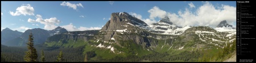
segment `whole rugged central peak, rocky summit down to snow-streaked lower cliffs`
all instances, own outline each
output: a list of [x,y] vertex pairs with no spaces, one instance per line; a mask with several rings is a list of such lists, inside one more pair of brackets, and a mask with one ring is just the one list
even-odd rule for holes
[[[148,35],[147,31],[142,29],[148,26],[144,21],[129,15],[126,12],[112,13],[111,19],[100,30],[96,39],[119,44],[120,40],[133,40],[135,43],[140,44],[148,42],[145,36]],[[140,28],[142,27],[142,28]],[[148,44],[150,45],[150,44]]]

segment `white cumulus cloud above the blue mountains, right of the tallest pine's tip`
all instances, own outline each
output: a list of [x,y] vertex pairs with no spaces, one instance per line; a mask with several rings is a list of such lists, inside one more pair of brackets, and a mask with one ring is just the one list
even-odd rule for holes
[[33,19],[28,19],[28,22],[40,22],[41,24],[44,24],[44,29],[46,30],[52,30],[57,28],[56,25],[59,25],[59,23],[61,22],[60,20],[58,20],[56,17],[51,17],[49,19],[42,19],[41,15],[36,15],[36,20]]

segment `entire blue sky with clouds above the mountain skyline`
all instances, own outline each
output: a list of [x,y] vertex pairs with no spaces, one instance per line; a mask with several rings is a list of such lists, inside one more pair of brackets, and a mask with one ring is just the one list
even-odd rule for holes
[[113,12],[130,13],[148,25],[168,16],[179,26],[214,28],[222,20],[236,26],[236,1],[1,1],[1,30],[101,29]]

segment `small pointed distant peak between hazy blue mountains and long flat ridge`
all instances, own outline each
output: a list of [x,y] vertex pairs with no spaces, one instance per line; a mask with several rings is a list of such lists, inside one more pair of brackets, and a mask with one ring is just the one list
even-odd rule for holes
[[50,36],[55,35],[55,34],[68,32],[65,28],[61,28],[60,26],[58,26],[57,28],[55,28],[53,30],[48,30],[48,31],[49,31]]

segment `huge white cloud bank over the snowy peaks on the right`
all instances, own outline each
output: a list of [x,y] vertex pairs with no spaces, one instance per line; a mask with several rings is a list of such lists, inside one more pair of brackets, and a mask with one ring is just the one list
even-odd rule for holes
[[197,7],[195,12],[185,8],[184,11],[180,10],[178,13],[171,13],[154,6],[148,10],[150,19],[142,20],[148,24],[148,22],[155,21],[156,17],[163,18],[168,16],[174,24],[179,26],[210,26],[212,28],[216,28],[220,21],[223,20],[226,20],[228,24],[236,22],[236,7],[225,4],[221,4],[221,7],[216,7],[210,2],[203,2],[203,5]]

